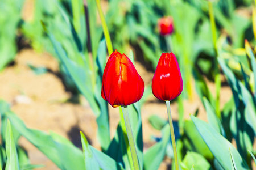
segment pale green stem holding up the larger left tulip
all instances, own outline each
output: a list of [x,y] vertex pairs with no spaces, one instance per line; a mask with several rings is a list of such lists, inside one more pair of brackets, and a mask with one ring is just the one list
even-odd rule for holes
[[130,149],[131,149],[131,158],[133,159],[133,167],[134,167],[134,170],[139,170],[138,156],[137,156],[136,147],[134,143],[133,131],[131,130],[131,124],[130,124],[127,105],[122,106],[122,111],[123,111],[123,118],[125,119],[125,126],[126,126],[127,136],[129,140]]

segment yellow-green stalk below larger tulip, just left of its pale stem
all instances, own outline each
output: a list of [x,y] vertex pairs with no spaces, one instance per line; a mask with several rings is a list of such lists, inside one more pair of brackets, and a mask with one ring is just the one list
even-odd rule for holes
[[131,148],[130,148],[128,137],[127,137],[127,131],[126,131],[126,127],[125,127],[125,118],[123,117],[122,107],[119,107],[119,113],[120,113],[120,125],[121,125],[122,131],[123,131],[123,137],[125,138],[125,144],[126,144],[126,148],[127,148],[126,152],[127,152],[129,163],[130,163],[130,168],[131,168],[131,170],[134,170],[133,158],[131,158]]

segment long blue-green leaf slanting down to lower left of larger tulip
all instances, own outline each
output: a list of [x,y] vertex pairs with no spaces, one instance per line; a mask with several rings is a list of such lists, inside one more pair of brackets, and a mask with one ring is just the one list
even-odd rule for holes
[[[53,46],[55,47],[56,53],[58,54],[61,62],[67,68],[69,75],[75,82],[77,88],[79,88],[82,95],[86,97],[89,101],[90,107],[92,107],[94,114],[97,117],[98,124],[98,139],[101,143],[103,151],[106,151],[110,143],[110,134],[109,134],[109,119],[108,119],[108,105],[104,99],[101,97],[101,78],[97,76],[96,84],[93,84],[92,81],[88,79],[92,78],[92,71],[88,69],[88,63],[84,61],[81,54],[77,54],[77,62],[72,61],[68,58],[61,44],[55,40],[55,37],[50,34],[49,38],[52,41]],[[79,61],[83,61],[79,65]]]

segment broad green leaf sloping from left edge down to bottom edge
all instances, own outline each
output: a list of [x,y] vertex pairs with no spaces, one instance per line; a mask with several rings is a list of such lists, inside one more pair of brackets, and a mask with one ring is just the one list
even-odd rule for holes
[[[2,101],[3,102],[3,101]],[[29,129],[13,112],[1,113],[9,118],[13,128],[52,160],[60,169],[85,169],[81,150],[67,139],[56,134]]]

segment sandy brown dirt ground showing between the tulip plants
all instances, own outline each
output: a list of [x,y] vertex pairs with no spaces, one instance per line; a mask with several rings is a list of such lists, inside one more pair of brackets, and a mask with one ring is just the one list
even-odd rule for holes
[[[35,75],[27,66],[28,63],[34,66],[43,66],[52,70],[42,75]],[[146,84],[152,80],[153,73],[148,72],[144,67],[135,62],[138,73]],[[81,147],[79,131],[84,131],[89,137],[92,146],[100,148],[96,139],[96,117],[89,107],[86,99],[81,97],[81,104],[65,102],[71,97],[71,93],[65,91],[61,79],[57,76],[58,63],[55,58],[47,53],[38,54],[31,49],[20,51],[13,66],[7,67],[0,73],[0,99],[11,103],[11,109],[18,114],[29,128],[44,131],[55,131],[70,139],[76,146]],[[214,84],[208,82],[210,90],[214,91]],[[193,83],[192,83],[193,86]],[[206,120],[205,111],[201,101],[194,92],[194,99],[184,101],[185,118],[193,114],[199,108],[199,117]],[[214,94],[214,92],[213,92]],[[229,87],[221,88],[221,107],[230,99],[232,92]],[[177,120],[177,104],[172,103],[172,116]],[[110,109],[110,133],[113,137],[119,121],[117,108]],[[160,136],[160,132],[153,129],[148,122],[152,114],[167,119],[166,105],[159,103],[154,97],[150,97],[142,107],[142,129],[144,151],[154,144],[151,141],[152,135]],[[20,145],[26,148],[32,164],[44,164],[42,169],[58,169],[51,160],[46,158],[25,138],[20,139]],[[159,169],[166,169],[170,160],[166,159]]]

